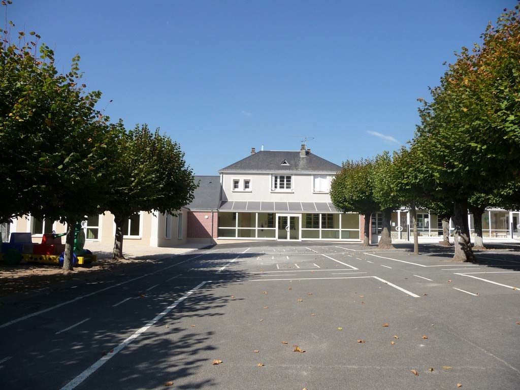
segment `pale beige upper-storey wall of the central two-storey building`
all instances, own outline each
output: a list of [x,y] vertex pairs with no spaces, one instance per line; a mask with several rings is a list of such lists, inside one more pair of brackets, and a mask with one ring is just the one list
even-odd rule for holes
[[[235,201],[265,201],[265,202],[330,202],[328,193],[313,192],[313,174],[280,173],[280,175],[292,176],[293,192],[271,192],[270,173],[224,173],[223,176],[223,200]],[[240,188],[243,180],[251,180],[251,191],[233,191],[233,179],[240,180]]]

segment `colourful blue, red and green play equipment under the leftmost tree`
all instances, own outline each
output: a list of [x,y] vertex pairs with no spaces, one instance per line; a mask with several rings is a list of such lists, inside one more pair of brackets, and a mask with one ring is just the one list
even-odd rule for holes
[[[11,233],[9,242],[0,243],[2,251],[0,261],[8,265],[21,263],[41,263],[63,265],[65,244],[61,243],[61,237],[67,233],[44,234],[42,243],[33,244],[31,233]],[[73,265],[87,265],[97,261],[85,246],[85,232],[81,224],[74,228]]]

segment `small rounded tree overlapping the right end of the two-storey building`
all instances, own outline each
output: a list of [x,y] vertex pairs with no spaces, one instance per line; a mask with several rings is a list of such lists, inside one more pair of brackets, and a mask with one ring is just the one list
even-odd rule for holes
[[379,210],[372,187],[373,160],[362,159],[343,163],[342,171],[332,180],[330,197],[334,206],[344,213],[362,214],[363,246],[370,245],[370,219]]

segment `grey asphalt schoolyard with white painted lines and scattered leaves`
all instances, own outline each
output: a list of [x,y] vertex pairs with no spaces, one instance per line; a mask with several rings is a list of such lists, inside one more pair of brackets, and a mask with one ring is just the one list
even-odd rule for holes
[[520,252],[408,249],[217,245],[4,304],[1,387],[519,389]]

